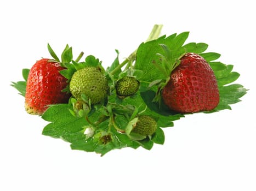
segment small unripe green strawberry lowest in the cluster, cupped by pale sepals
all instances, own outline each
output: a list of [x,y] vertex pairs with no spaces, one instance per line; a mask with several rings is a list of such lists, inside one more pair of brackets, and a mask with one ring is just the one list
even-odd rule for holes
[[156,121],[150,116],[143,115],[139,116],[138,122],[136,123],[136,126],[133,128],[132,132],[148,136],[155,133],[156,128]]

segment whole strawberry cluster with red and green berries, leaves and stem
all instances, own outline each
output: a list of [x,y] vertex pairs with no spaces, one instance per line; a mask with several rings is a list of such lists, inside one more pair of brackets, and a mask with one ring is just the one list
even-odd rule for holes
[[42,134],[70,142],[73,150],[101,156],[125,147],[150,150],[164,144],[164,128],[175,120],[231,109],[247,92],[233,83],[240,76],[233,65],[206,52],[206,43],[185,44],[189,32],[158,37],[161,28],[155,25],[122,63],[116,51],[107,68],[92,55],[74,60],[68,45],[60,60],[48,44],[53,58],[22,70],[24,81],[12,86],[29,113],[49,122]]

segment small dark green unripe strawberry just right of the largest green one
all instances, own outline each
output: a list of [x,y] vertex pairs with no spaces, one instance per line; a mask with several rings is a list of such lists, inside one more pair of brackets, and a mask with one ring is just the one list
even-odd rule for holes
[[140,82],[135,77],[125,76],[116,82],[116,93],[118,96],[132,96],[139,89]]

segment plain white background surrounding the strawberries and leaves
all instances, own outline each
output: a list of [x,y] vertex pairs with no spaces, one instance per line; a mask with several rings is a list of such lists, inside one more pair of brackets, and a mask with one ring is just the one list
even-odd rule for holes
[[[256,190],[255,9],[253,1],[18,1],[0,3],[0,190]],[[106,67],[144,41],[155,23],[162,34],[190,31],[219,61],[233,64],[250,89],[232,110],[194,114],[164,129],[164,145],[125,148],[100,157],[72,151],[41,134],[47,122],[26,114],[10,86],[22,68],[60,54],[68,43]]]

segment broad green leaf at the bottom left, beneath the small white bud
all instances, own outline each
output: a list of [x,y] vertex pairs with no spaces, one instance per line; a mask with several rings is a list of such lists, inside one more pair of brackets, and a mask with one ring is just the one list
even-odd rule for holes
[[[102,144],[100,142],[100,136],[102,136],[103,133],[100,132],[105,132],[105,130],[108,129],[109,120],[100,123],[98,127],[99,133],[95,135],[95,138],[87,138],[83,132],[90,124],[84,118],[73,116],[69,111],[68,104],[55,104],[50,106],[44,112],[42,118],[45,121],[51,122],[44,127],[42,134],[70,142],[73,150],[96,152],[103,156],[113,149],[128,146],[138,148],[140,146],[138,142],[130,140],[127,135],[120,134],[114,129],[111,129],[111,141]],[[89,117],[89,121],[95,122],[98,118],[99,114],[94,111]]]

